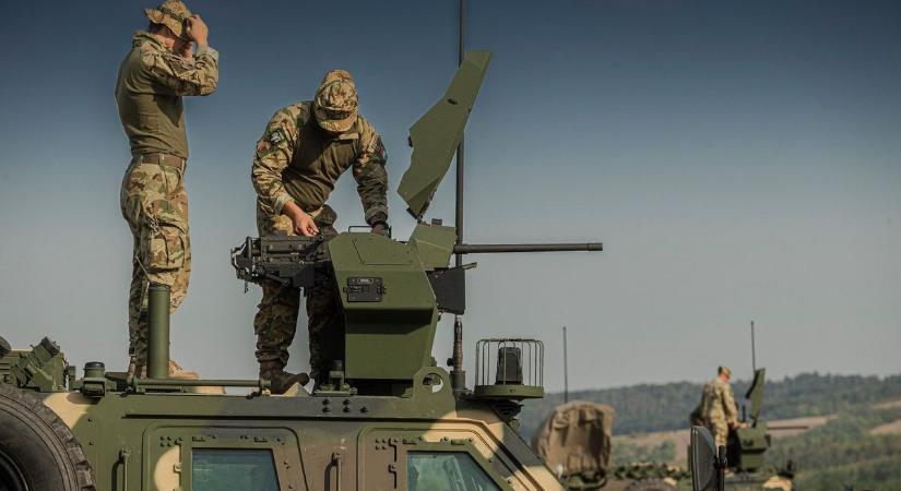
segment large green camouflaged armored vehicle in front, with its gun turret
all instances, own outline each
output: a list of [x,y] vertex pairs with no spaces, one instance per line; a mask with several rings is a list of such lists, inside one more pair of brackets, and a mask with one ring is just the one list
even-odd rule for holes
[[[462,244],[454,227],[424,221],[489,58],[469,53],[411,129],[400,185],[417,220],[408,240],[263,237],[234,251],[246,280],[334,275],[345,328],[328,380],[273,395],[266,380],[168,378],[169,294],[152,286],[146,378],[98,361],[78,378],[47,338],[24,350],[0,343],[0,490],[561,490],[517,431],[520,402],[543,395],[541,342],[477,343],[472,390],[460,322],[451,373],[431,357],[439,316],[465,308],[470,266],[450,267],[452,254],[601,250]],[[329,260],[317,259],[321,248]]]

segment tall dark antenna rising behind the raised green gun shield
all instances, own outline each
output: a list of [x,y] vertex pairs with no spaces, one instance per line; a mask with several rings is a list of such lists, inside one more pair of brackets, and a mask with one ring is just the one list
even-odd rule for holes
[[[457,64],[463,64],[466,34],[466,0],[459,0],[458,11],[458,60]],[[464,130],[465,132],[465,130]],[[454,226],[457,227],[457,246],[463,244],[463,134],[460,135],[460,143],[457,145],[457,212],[454,213]],[[463,254],[457,253],[454,260],[457,267],[463,265]],[[460,314],[453,316],[453,352],[451,355],[451,387],[455,394],[466,391],[466,371],[463,370],[463,319]]]

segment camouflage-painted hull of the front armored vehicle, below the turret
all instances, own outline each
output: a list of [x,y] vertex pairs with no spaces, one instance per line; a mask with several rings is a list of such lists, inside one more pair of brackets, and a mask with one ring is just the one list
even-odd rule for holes
[[[164,384],[92,397],[3,385],[0,427],[32,428],[14,444],[0,441],[12,463],[8,489],[562,489],[490,404],[454,397],[442,369],[420,374],[408,397],[192,394]],[[52,430],[60,422],[71,433]],[[42,466],[45,478],[60,476],[52,482],[16,457],[67,446],[73,458]]]

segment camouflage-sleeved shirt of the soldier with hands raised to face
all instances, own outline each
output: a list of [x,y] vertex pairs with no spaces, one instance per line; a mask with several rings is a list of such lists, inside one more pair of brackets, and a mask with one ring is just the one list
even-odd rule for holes
[[131,154],[164,153],[188,158],[181,96],[210,95],[218,83],[218,52],[198,49],[186,59],[139,31],[119,67],[116,103]]

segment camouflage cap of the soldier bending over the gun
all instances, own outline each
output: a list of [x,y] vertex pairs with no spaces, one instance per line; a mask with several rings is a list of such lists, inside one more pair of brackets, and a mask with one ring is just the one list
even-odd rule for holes
[[357,87],[345,70],[332,70],[322,79],[313,99],[313,113],[320,127],[344,132],[357,120]]

